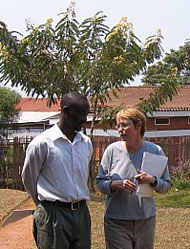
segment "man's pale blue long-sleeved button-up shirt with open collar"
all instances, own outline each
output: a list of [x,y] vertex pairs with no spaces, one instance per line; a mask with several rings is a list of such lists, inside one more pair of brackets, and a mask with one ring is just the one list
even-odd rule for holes
[[91,155],[91,140],[82,132],[71,142],[54,125],[35,137],[26,152],[22,180],[36,205],[43,200],[89,200]]

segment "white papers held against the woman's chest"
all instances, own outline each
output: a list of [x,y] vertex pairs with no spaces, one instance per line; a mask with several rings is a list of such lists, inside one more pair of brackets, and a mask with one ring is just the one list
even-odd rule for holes
[[[168,162],[168,157],[144,152],[141,170],[152,175],[161,177]],[[139,184],[136,194],[141,197],[152,197],[153,188],[149,184]]]

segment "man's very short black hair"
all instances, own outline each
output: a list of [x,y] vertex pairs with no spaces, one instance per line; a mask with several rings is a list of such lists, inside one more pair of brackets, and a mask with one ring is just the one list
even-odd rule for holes
[[64,106],[75,106],[77,105],[77,103],[81,102],[81,101],[87,101],[88,99],[86,96],[78,93],[78,92],[69,92],[67,94],[65,94],[63,96],[63,98],[61,99],[61,103],[60,106],[61,108]]

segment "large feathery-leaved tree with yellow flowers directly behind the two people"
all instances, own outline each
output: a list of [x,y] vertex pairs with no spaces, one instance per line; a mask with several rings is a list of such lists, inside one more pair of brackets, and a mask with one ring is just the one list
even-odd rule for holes
[[[38,27],[28,23],[29,34],[20,40],[18,32],[0,23],[0,80],[48,97],[49,104],[71,90],[85,94],[94,112],[92,135],[95,120],[112,117],[118,108],[107,107],[110,90],[117,95],[117,89],[160,58],[162,36],[158,31],[143,44],[126,17],[110,29],[102,12],[79,23],[73,5],[61,17],[55,27],[52,19]],[[169,90],[176,88],[172,83]]]

